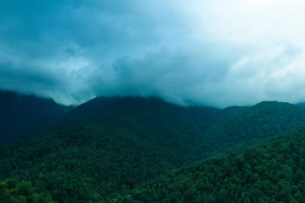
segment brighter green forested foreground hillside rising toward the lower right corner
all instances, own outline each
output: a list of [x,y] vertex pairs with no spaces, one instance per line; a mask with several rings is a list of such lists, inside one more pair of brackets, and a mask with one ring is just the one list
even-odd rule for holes
[[[123,202],[304,202],[305,127],[167,172]],[[118,197],[118,200],[121,198]]]

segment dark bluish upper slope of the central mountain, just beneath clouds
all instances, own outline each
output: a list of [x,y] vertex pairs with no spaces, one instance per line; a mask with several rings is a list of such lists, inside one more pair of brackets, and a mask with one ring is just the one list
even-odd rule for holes
[[55,128],[73,125],[119,128],[156,145],[191,151],[203,135],[183,107],[160,98],[95,98],[61,117]]

